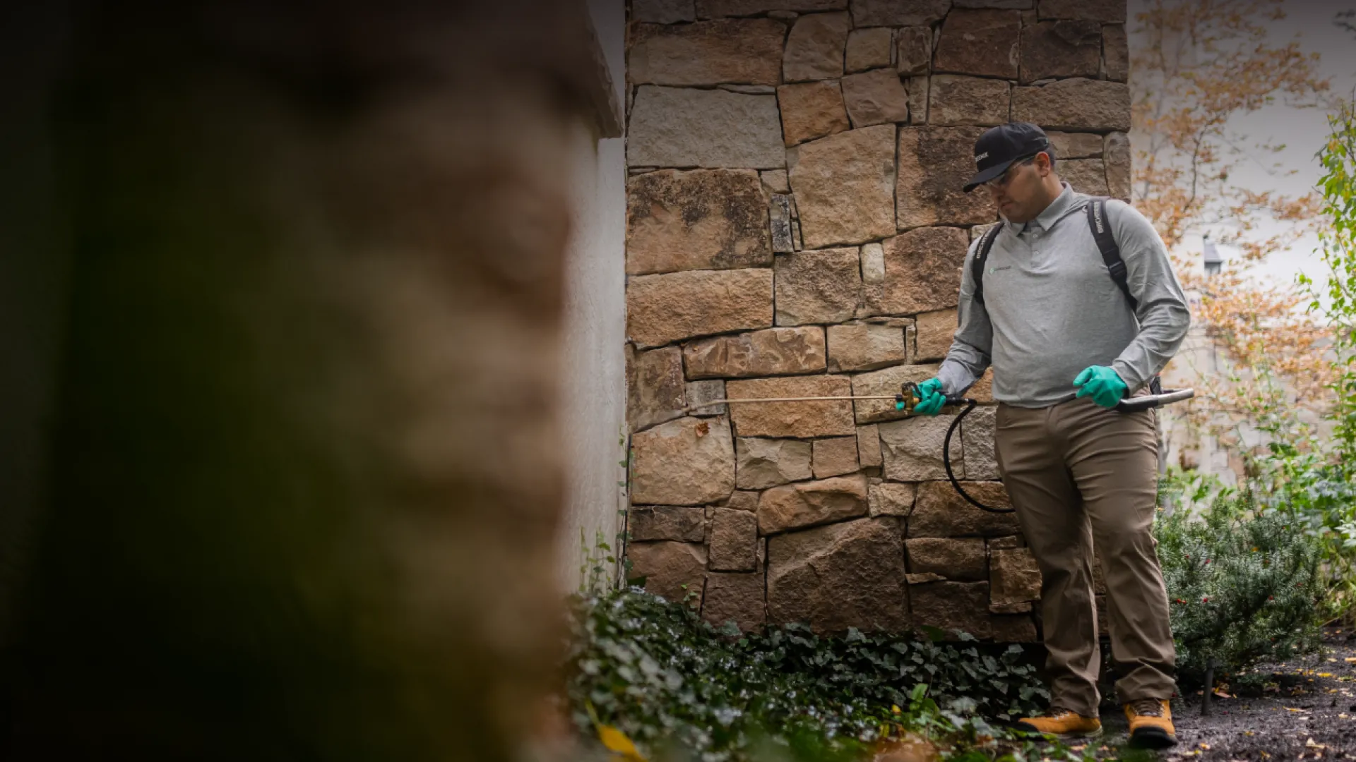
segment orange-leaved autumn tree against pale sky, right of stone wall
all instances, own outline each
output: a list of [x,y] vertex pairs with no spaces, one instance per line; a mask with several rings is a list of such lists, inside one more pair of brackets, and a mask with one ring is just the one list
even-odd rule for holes
[[[1258,263],[1321,224],[1319,197],[1231,179],[1242,163],[1294,172],[1275,165],[1283,145],[1238,134],[1237,117],[1272,104],[1319,107],[1329,89],[1317,53],[1268,37],[1283,15],[1281,0],[1150,0],[1131,20],[1132,201],[1177,252],[1182,285],[1200,296],[1193,320],[1227,366],[1204,373],[1197,400],[1176,412],[1226,445],[1241,422],[1277,426],[1298,408],[1322,412],[1336,378],[1328,332],[1304,313],[1309,300],[1256,277]],[[1200,252],[1182,247],[1205,230],[1241,254],[1210,278],[1196,267]]]

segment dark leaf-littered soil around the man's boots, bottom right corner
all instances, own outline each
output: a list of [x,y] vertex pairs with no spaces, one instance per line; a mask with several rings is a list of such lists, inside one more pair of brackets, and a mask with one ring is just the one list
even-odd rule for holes
[[[1323,643],[1318,656],[1265,667],[1273,685],[1260,696],[1216,693],[1208,717],[1200,715],[1200,691],[1174,698],[1178,744],[1159,759],[1356,759],[1356,630],[1329,628]],[[1106,735],[1089,751],[1116,757],[1125,743],[1125,716],[1104,705],[1102,724]]]

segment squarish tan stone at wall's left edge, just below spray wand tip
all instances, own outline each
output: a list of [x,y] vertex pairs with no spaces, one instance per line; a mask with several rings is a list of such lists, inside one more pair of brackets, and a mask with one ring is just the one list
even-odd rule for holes
[[631,500],[700,506],[735,489],[735,443],[724,418],[681,418],[631,438]]

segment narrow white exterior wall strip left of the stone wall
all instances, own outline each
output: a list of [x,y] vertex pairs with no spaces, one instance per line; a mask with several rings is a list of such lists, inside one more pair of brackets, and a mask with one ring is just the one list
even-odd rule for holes
[[[589,0],[618,103],[625,103],[625,3]],[[580,119],[571,144],[574,229],[565,262],[565,329],[560,401],[565,447],[565,511],[559,529],[557,579],[578,588],[598,532],[616,548],[625,507],[626,317],[625,138],[598,138]]]

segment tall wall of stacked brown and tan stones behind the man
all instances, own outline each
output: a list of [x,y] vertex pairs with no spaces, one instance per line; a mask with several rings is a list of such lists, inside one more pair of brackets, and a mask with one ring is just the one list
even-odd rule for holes
[[[965,249],[960,186],[1009,119],[1077,190],[1128,198],[1124,0],[633,0],[626,331],[633,575],[716,624],[1037,637],[1016,519],[946,483],[949,415],[881,403],[936,374]],[[952,442],[1005,504],[991,377]],[[1101,593],[1098,582],[1098,593]]]

